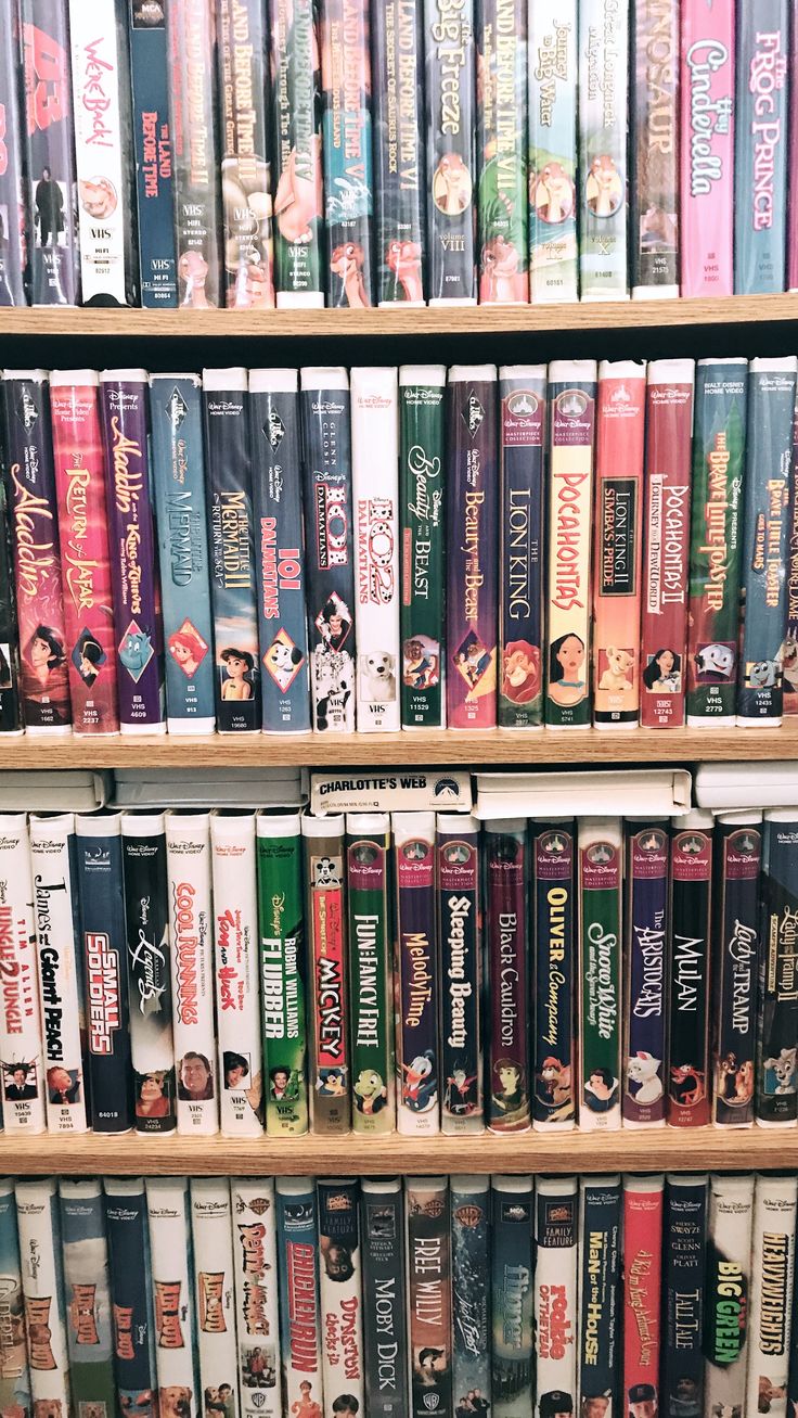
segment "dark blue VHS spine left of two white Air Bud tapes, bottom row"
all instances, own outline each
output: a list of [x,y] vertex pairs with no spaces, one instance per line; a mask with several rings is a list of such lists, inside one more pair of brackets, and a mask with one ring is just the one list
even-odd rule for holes
[[103,1190],[118,1401],[123,1411],[154,1415],[156,1334],[145,1180],[106,1177]]

